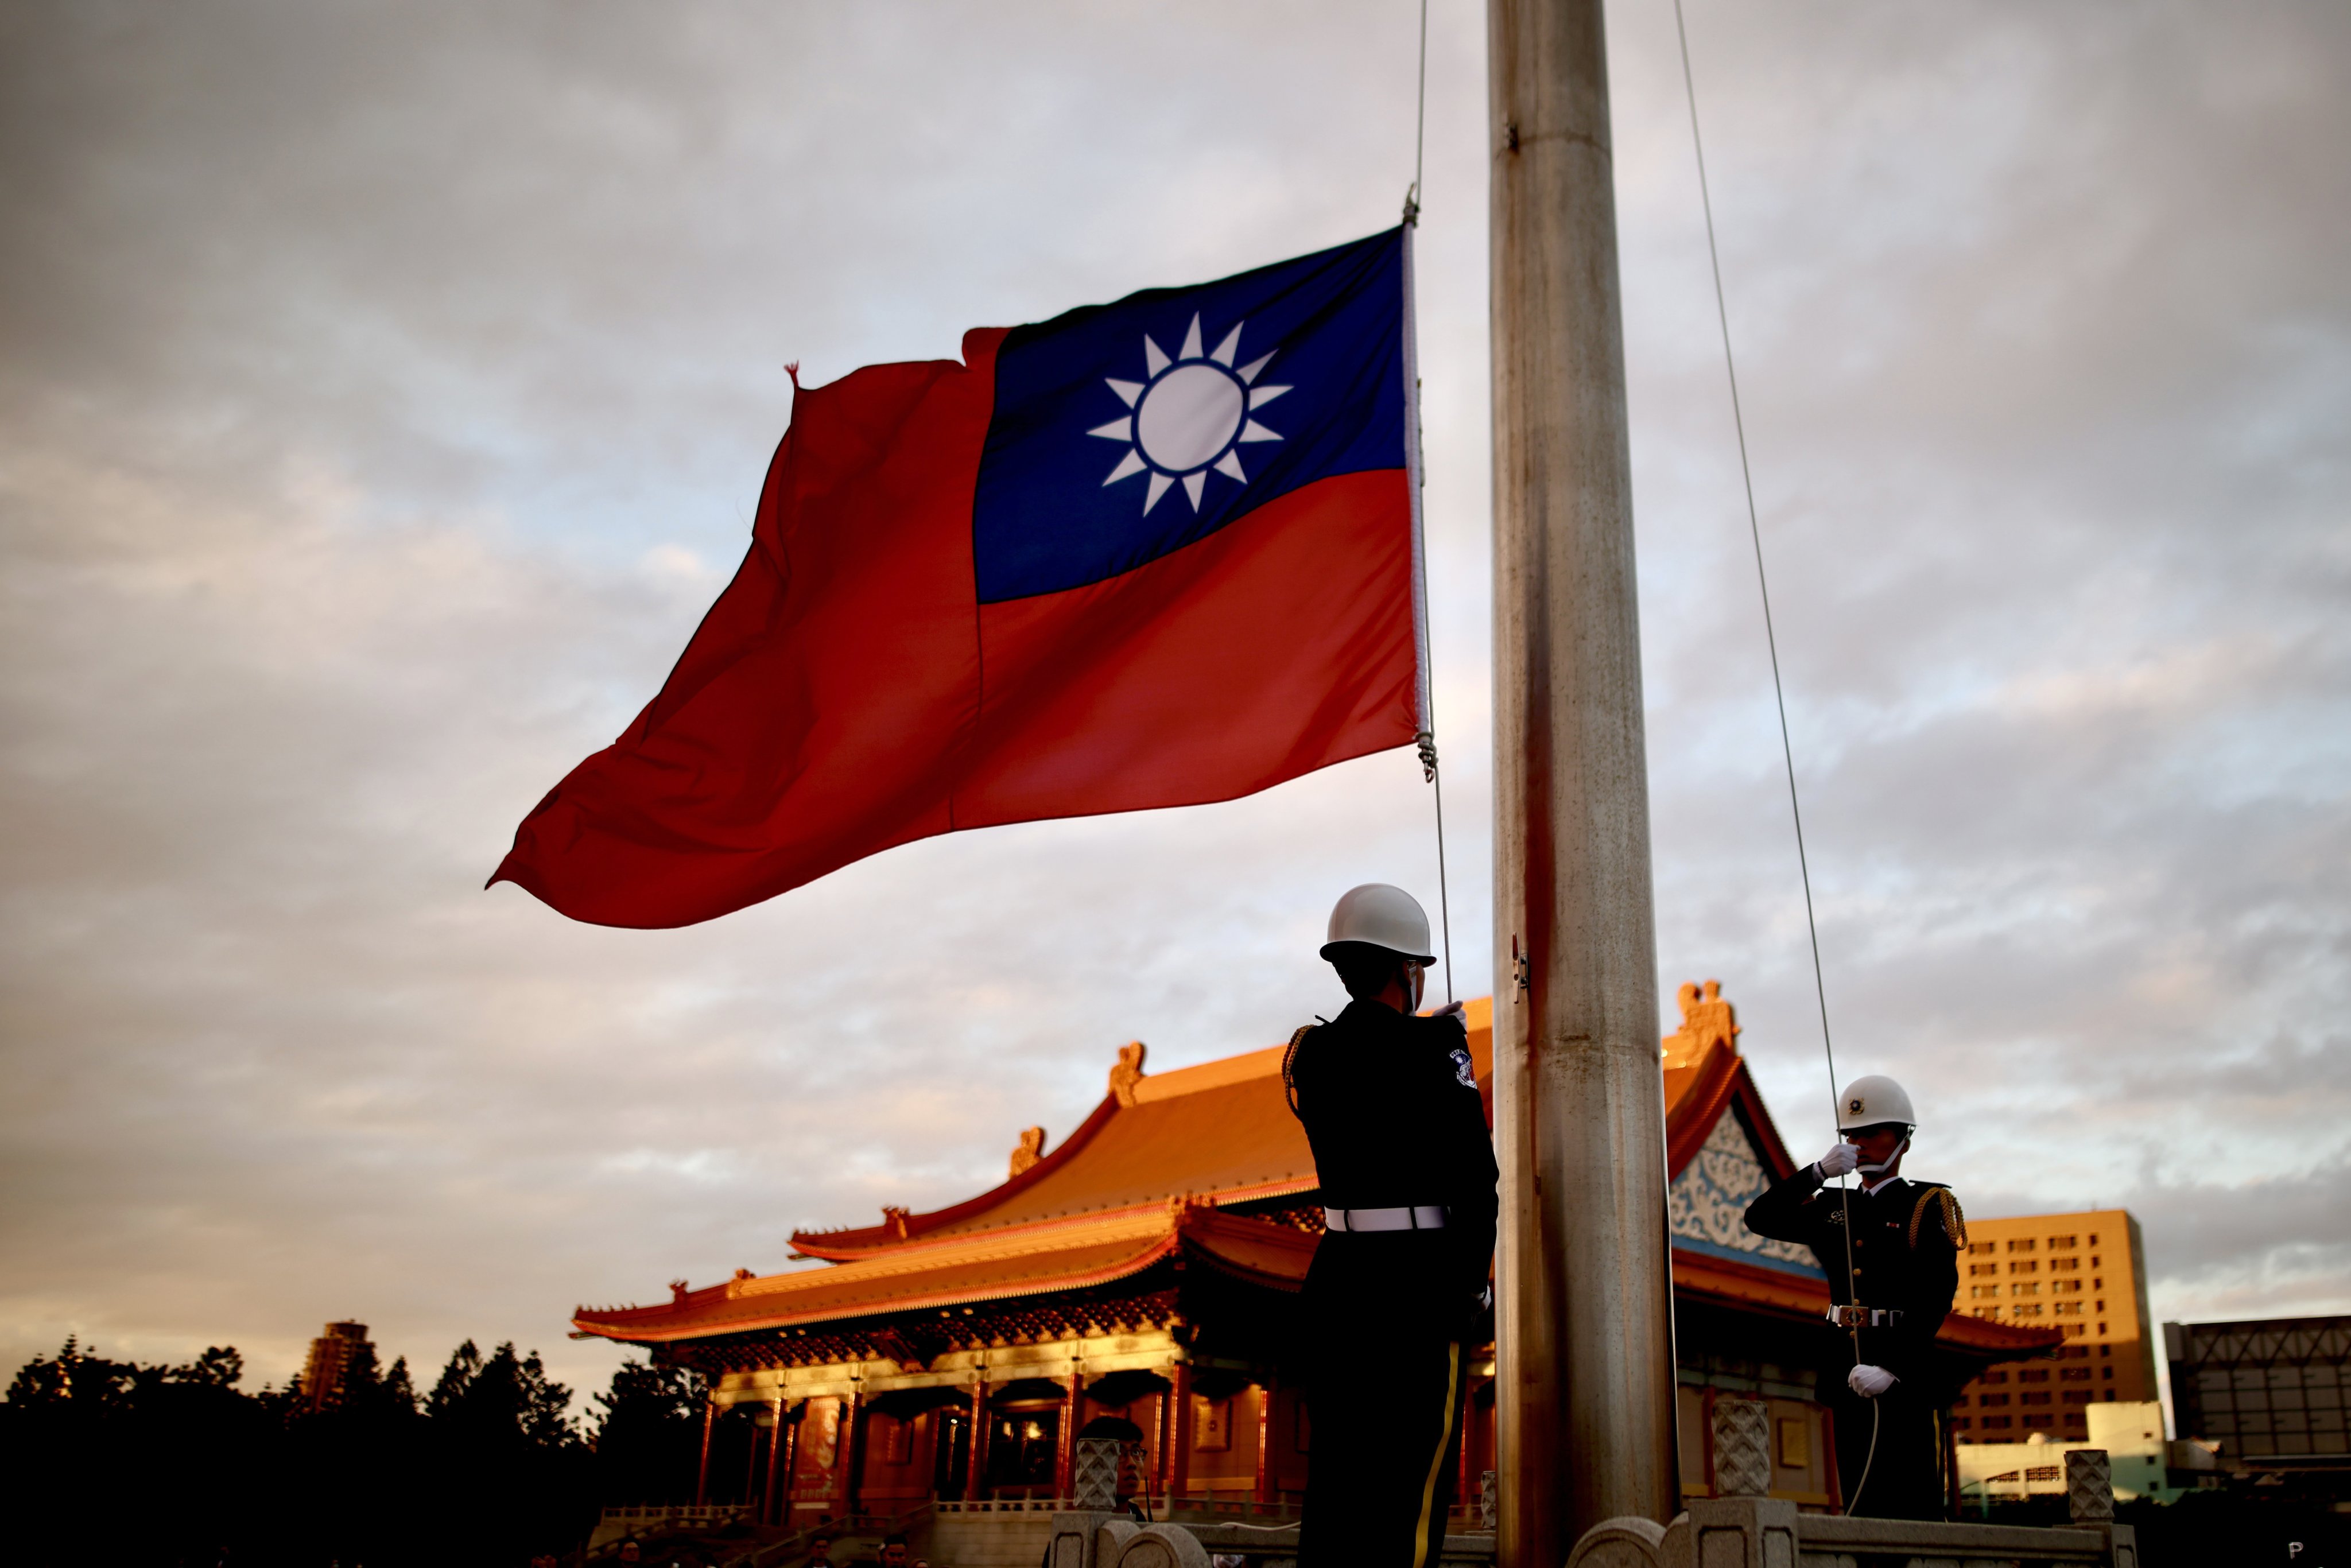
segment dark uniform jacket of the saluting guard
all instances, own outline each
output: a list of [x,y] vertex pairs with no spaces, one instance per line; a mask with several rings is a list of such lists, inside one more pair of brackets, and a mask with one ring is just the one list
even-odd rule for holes
[[[1846,1211],[1853,1213],[1853,1274],[1846,1274]],[[1911,1394],[1944,1399],[1935,1359],[1935,1331],[1958,1295],[1958,1253],[1968,1246],[1968,1222],[1949,1187],[1895,1178],[1867,1192],[1836,1192],[1806,1166],[1747,1206],[1747,1229],[1773,1241],[1801,1241],[1829,1276],[1829,1300],[1838,1305],[1900,1312],[1900,1321],[1862,1328],[1862,1366],[1883,1366]],[[1834,1366],[1822,1368],[1822,1387],[1855,1366],[1853,1335],[1836,1335]]]

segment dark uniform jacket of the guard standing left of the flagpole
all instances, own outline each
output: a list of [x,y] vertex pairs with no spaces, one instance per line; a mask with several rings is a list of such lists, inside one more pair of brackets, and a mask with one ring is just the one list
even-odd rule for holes
[[1326,1208],[1444,1206],[1446,1227],[1324,1234],[1307,1309],[1467,1333],[1493,1265],[1500,1166],[1458,1013],[1349,1001],[1284,1063]]

